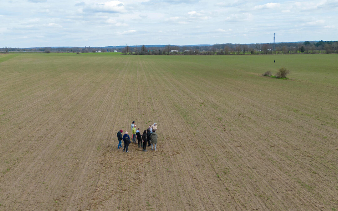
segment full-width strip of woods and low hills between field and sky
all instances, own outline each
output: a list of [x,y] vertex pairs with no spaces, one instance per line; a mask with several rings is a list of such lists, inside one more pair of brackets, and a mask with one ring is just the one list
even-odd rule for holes
[[0,48],[0,52],[122,52],[132,55],[240,55],[240,54],[315,54],[338,53],[338,41],[306,41],[256,44],[215,44],[199,46],[109,46],[109,47],[40,47],[40,48]]

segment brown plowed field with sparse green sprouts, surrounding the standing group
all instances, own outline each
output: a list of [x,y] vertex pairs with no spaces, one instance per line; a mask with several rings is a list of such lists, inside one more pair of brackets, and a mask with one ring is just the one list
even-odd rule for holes
[[[281,67],[289,80],[262,76]],[[0,210],[336,210],[337,67],[338,55],[0,55]],[[158,123],[157,151],[117,150],[132,121]]]

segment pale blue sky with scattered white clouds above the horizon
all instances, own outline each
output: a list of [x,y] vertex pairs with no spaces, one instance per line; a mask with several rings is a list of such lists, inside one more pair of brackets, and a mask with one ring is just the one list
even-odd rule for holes
[[338,0],[0,0],[0,48],[338,40]]

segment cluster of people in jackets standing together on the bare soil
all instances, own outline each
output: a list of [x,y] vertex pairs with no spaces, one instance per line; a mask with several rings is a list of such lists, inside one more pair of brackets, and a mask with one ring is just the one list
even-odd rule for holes
[[[153,125],[149,125],[148,129],[144,130],[141,136],[140,128],[136,130],[135,121],[133,121],[131,123],[132,143],[136,143],[136,139],[137,139],[139,147],[140,146],[142,147],[142,151],[147,152],[146,147],[147,147],[147,142],[148,142],[148,147],[151,146],[151,150],[154,149],[154,151],[156,151],[156,145],[157,145],[156,130],[157,130],[157,124],[154,123]],[[122,148],[122,140],[123,140],[123,143],[124,143],[123,152],[128,152],[128,146],[129,146],[129,143],[131,143],[130,137],[127,131],[124,133],[123,136],[122,136],[122,133],[123,133],[123,130],[120,130],[119,132],[117,132],[117,135],[116,135],[117,140],[119,141],[117,149]]]

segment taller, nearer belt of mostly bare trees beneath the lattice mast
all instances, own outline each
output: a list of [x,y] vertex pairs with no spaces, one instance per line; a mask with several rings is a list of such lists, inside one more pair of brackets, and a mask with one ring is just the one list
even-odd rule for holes
[[338,53],[338,41],[306,41],[292,43],[272,43],[256,44],[215,44],[212,46],[174,46],[150,47],[142,45],[140,47],[130,47],[126,45],[122,49],[122,54],[135,55],[244,55],[244,54],[302,54],[302,53]]

